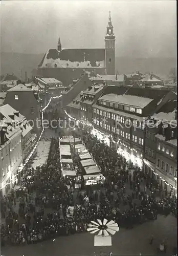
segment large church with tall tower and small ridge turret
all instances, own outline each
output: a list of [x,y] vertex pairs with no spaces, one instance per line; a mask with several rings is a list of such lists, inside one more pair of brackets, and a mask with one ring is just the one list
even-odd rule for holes
[[106,27],[105,48],[98,49],[62,49],[60,38],[57,49],[44,54],[38,65],[38,76],[56,78],[69,86],[85,71],[91,75],[115,75],[115,35],[112,19]]

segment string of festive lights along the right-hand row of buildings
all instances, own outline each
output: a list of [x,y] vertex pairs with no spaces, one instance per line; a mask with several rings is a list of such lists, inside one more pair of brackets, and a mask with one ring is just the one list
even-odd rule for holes
[[[64,112],[65,112],[65,114],[66,114],[69,118],[71,118],[71,119],[73,119],[73,120],[77,120],[76,118],[70,116],[65,110],[64,110]],[[86,123],[84,123],[84,121],[81,121],[81,120],[77,120],[77,121],[78,121],[79,123],[86,124]],[[87,124],[86,124],[86,125],[87,125]],[[97,129],[95,129],[95,127],[94,127],[92,124],[87,125],[87,126],[92,127],[93,130],[95,130],[95,131],[98,131]],[[106,135],[106,134],[104,134],[104,133],[102,133],[102,132],[100,132],[100,131],[98,131],[98,132],[99,132],[101,135],[103,135],[103,136],[105,136],[105,137],[107,137],[107,138],[110,138],[110,139],[112,140],[112,142],[117,143],[117,144],[120,144],[120,145],[123,145],[123,146],[125,146],[125,147],[128,147],[130,151],[135,151],[135,152],[137,153],[137,150],[135,150],[135,148],[130,148],[128,145],[124,144],[123,142],[120,142],[120,139],[118,140],[118,142],[116,142],[116,141],[113,140],[113,136],[112,136],[112,135]],[[141,157],[143,157],[143,156],[141,155]],[[143,160],[143,161],[144,161],[144,160]],[[145,161],[144,161],[144,163],[145,163]],[[145,163],[145,164],[146,164],[146,163]],[[154,172],[154,170],[153,170],[152,168],[150,168],[150,169],[152,170],[152,172],[153,172],[156,176],[159,176],[157,173]],[[160,177],[160,179],[161,179],[162,181],[165,182],[166,185],[172,187],[173,189],[176,189],[176,187],[174,187],[172,184],[167,183],[167,182],[165,181],[165,179],[163,179],[161,176],[159,176],[159,177]]]

